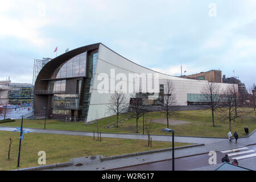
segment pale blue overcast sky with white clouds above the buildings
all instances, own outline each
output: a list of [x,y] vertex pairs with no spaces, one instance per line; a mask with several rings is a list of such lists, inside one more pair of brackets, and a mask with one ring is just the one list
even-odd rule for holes
[[187,75],[220,69],[256,82],[255,0],[1,0],[0,22],[0,80],[32,83],[34,58],[101,42],[170,75],[182,64]]

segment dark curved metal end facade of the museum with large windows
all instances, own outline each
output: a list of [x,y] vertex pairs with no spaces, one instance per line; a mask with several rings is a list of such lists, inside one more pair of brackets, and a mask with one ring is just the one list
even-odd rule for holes
[[[46,116],[47,118],[68,120],[70,118],[86,118],[87,107],[89,107],[89,103],[87,103],[89,99],[88,84],[90,84],[92,79],[92,73],[90,73],[90,69],[92,69],[90,65],[92,64],[89,63],[92,56],[90,55],[98,52],[99,45],[100,43],[97,43],[74,49],[52,59],[44,65],[35,81],[35,117]],[[57,76],[58,73],[60,74],[59,69],[61,65],[82,53],[87,55],[85,58],[86,67],[84,68],[84,63],[80,65],[82,68],[77,69],[81,72],[80,74],[75,72],[77,65],[74,65],[71,70],[71,72],[73,71],[72,76],[68,75],[68,71],[65,76]],[[59,85],[61,89],[57,89]],[[59,105],[56,104],[58,101]]]

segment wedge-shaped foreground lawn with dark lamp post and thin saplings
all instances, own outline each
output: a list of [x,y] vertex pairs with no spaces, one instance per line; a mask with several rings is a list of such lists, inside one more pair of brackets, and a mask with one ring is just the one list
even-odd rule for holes
[[[7,160],[9,137],[13,137],[10,160]],[[175,146],[185,146],[189,143],[175,143]],[[20,155],[20,168],[39,166],[38,152],[46,152],[46,164],[69,162],[72,158],[86,156],[121,155],[133,152],[157,150],[171,147],[171,142],[152,142],[152,148],[147,146],[147,140],[131,140],[102,138],[102,141],[93,140],[93,137],[53,134],[24,134]],[[19,133],[0,131],[0,170],[17,169],[19,150]]]

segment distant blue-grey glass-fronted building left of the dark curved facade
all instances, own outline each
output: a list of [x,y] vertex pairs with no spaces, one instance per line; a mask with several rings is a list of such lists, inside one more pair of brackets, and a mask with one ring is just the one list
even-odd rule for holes
[[32,84],[10,83],[9,104],[29,104],[32,102]]

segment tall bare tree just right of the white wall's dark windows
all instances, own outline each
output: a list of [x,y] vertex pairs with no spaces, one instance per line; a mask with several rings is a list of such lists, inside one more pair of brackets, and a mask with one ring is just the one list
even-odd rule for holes
[[164,85],[164,112],[166,113],[167,128],[169,128],[169,116],[171,115],[173,109],[171,106],[176,104],[176,94],[174,93],[174,85],[172,81],[167,80],[166,85]]

